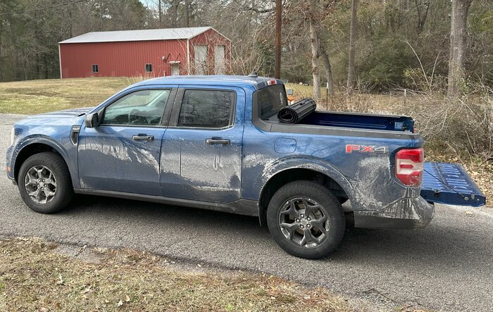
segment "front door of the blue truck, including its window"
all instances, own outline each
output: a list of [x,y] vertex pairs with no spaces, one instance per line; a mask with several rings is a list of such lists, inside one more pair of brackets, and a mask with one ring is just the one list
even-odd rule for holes
[[163,114],[172,89],[130,92],[104,108],[99,126],[82,127],[80,185],[85,189],[161,195]]

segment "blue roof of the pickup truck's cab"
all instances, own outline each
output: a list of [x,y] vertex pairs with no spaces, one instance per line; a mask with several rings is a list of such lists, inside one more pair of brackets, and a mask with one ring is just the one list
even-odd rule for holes
[[138,82],[136,85],[215,85],[229,87],[253,87],[261,89],[268,85],[280,85],[281,80],[269,77],[232,76],[232,75],[182,75],[167,76]]

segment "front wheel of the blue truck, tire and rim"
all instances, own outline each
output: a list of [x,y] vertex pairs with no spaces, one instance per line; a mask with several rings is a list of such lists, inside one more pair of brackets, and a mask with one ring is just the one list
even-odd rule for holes
[[27,158],[20,166],[17,184],[25,204],[39,213],[60,211],[74,194],[67,164],[52,152]]

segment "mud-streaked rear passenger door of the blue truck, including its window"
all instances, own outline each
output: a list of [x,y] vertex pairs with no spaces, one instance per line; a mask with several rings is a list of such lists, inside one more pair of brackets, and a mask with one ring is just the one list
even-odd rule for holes
[[240,198],[244,105],[243,89],[180,86],[161,148],[163,196]]

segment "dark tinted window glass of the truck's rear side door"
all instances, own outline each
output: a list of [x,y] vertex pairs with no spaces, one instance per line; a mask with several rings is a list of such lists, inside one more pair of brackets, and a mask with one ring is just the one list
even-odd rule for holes
[[235,92],[185,90],[178,125],[185,127],[227,127],[232,123]]

